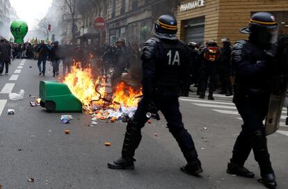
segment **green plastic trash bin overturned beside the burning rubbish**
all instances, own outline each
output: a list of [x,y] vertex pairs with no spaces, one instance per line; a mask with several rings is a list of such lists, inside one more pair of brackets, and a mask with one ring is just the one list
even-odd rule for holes
[[77,112],[82,113],[82,103],[72,94],[65,83],[40,81],[40,106],[48,112]]

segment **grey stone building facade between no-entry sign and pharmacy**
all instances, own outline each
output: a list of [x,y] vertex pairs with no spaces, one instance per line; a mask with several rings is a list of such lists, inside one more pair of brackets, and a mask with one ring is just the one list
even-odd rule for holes
[[108,0],[106,42],[122,38],[130,44],[142,44],[151,37],[160,15],[174,15],[177,2],[172,0]]

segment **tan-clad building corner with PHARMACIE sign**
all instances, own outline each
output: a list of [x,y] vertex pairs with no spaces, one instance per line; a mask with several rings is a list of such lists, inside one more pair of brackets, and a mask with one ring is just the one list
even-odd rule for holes
[[288,0],[185,0],[177,8],[178,36],[184,42],[230,38],[246,39],[239,28],[248,26],[250,16],[259,11],[275,15],[279,35],[288,35]]

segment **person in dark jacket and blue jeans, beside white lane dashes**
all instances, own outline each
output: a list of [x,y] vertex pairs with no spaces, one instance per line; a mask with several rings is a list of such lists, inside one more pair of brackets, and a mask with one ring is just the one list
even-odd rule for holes
[[[38,68],[39,68],[39,75],[45,76],[46,71],[46,60],[51,52],[51,48],[49,45],[45,44],[44,40],[41,40],[41,44],[39,44],[37,50],[38,52]],[[41,67],[42,63],[42,67]]]

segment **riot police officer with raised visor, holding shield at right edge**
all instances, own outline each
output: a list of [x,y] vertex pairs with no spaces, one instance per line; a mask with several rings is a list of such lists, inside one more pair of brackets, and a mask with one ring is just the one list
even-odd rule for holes
[[233,100],[243,119],[243,125],[235,142],[227,173],[253,178],[253,172],[243,167],[253,149],[262,176],[259,181],[267,188],[276,188],[262,122],[269,104],[269,71],[277,49],[275,42],[278,24],[273,15],[260,12],[255,13],[249,26],[240,31],[249,34],[249,40],[240,40],[232,49],[232,63],[235,67]]

